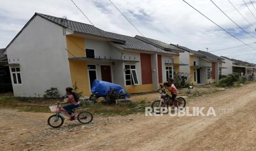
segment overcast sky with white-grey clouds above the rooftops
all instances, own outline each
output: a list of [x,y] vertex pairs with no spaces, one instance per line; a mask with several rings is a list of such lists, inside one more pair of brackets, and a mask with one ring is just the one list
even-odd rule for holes
[[[110,1],[73,1],[77,3],[96,27],[128,36],[140,35],[113,7]],[[243,0],[230,1],[256,27],[256,19],[250,13]],[[256,10],[250,1],[244,1],[256,16]],[[256,1],[251,1],[256,7]],[[112,2],[149,38],[204,51],[206,51],[206,48],[208,48],[208,51],[213,51],[243,45],[239,40],[222,31],[182,0],[112,0]],[[243,42],[256,42],[256,38],[240,30],[210,0],[187,0],[187,2]],[[250,26],[237,13],[228,0],[213,0],[213,2],[239,26],[256,37],[255,28]],[[89,24],[89,21],[85,19],[70,0],[1,0],[0,48],[5,48],[9,44],[35,12],[57,17],[67,16],[69,20]],[[251,46],[256,48],[256,44],[251,44]],[[256,49],[252,49],[247,45],[212,53],[256,63]]]

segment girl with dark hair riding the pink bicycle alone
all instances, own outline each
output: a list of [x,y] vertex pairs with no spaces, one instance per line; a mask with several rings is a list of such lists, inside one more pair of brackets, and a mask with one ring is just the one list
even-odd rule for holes
[[67,92],[68,98],[64,99],[64,102],[57,102],[57,103],[61,103],[61,104],[68,103],[66,106],[63,107],[63,109],[65,109],[68,112],[68,114],[70,115],[69,120],[73,120],[74,119],[73,109],[78,108],[80,106],[79,100],[78,100],[77,96],[75,96],[75,92],[73,91],[72,88],[70,88],[70,87],[66,88],[66,92]]

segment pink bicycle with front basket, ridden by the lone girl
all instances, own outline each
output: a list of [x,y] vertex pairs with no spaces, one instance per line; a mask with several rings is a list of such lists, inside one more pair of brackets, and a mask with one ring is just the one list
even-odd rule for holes
[[[67,117],[71,118],[71,115],[68,114],[68,112],[65,109],[61,108],[61,104],[59,104],[59,103],[57,103],[57,105],[55,105],[55,106],[50,106],[49,108],[50,108],[51,112],[56,112],[56,114],[51,115],[47,120],[48,125],[50,125],[51,127],[57,128],[57,127],[62,126],[64,123],[64,119],[65,119],[63,115],[66,115]],[[78,112],[77,111],[78,109],[79,108],[73,109],[73,111],[74,111],[74,113],[72,115],[73,119],[74,120],[77,119],[82,124],[90,123],[93,119],[92,114],[88,111]]]

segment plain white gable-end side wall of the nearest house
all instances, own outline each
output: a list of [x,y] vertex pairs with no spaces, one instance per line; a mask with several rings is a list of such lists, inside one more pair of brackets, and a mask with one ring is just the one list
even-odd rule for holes
[[72,86],[66,47],[62,27],[36,16],[7,49],[9,64],[20,64],[14,96],[43,96],[51,87],[64,95]]

